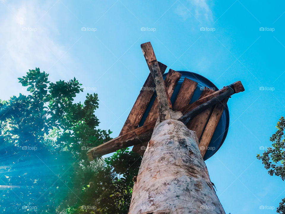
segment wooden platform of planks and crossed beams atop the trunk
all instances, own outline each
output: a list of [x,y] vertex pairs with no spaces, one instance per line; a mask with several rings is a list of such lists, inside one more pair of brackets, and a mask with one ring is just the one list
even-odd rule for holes
[[[147,143],[151,139],[153,128],[166,119],[178,119],[187,125],[190,130],[196,131],[200,152],[204,157],[229,97],[244,91],[242,83],[237,81],[218,91],[205,87],[199,99],[189,104],[198,83],[185,78],[172,106],[170,97],[181,74],[170,69],[165,80],[163,80],[162,74],[167,66],[157,61],[150,42],[143,43],[141,48],[150,74],[126,119],[120,135],[88,150],[89,161],[131,146],[134,146],[134,152],[143,155]],[[154,90],[148,89],[154,87],[156,88],[156,100],[144,124],[138,127],[154,95]]]

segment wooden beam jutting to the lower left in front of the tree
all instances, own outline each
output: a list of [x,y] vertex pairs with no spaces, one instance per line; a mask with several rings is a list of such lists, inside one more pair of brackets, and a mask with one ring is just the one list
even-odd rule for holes
[[88,160],[92,161],[96,157],[115,152],[119,149],[130,147],[136,144],[140,144],[151,139],[151,134],[156,121],[145,124],[135,130],[129,131],[123,135],[120,135],[104,144],[94,147],[86,153]]

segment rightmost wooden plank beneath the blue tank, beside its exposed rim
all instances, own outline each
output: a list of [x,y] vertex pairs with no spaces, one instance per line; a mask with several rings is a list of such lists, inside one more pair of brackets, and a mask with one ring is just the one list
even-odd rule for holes
[[224,108],[227,105],[228,99],[229,98],[227,97],[222,102],[217,103],[213,109],[213,112],[209,118],[209,121],[206,125],[206,128],[203,132],[202,138],[199,143],[199,149],[200,149],[202,157],[204,157],[207,152],[208,146],[217,128],[217,125],[221,119]]

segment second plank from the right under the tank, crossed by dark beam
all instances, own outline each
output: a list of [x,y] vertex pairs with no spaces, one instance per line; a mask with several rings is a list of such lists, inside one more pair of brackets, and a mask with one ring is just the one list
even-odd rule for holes
[[[200,98],[203,98],[211,93],[215,92],[214,90],[211,90],[207,87],[204,88],[202,91],[202,94]],[[196,132],[197,138],[200,140],[202,133],[205,129],[205,126],[208,122],[208,119],[213,111],[213,107],[206,109],[202,113],[198,114],[196,117],[191,119],[189,123],[187,124],[187,128],[189,128],[192,131]]]

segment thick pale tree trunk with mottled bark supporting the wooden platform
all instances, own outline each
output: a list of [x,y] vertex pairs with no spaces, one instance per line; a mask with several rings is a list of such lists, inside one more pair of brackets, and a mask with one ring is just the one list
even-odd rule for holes
[[195,132],[175,119],[154,128],[129,214],[225,214],[197,142]]

